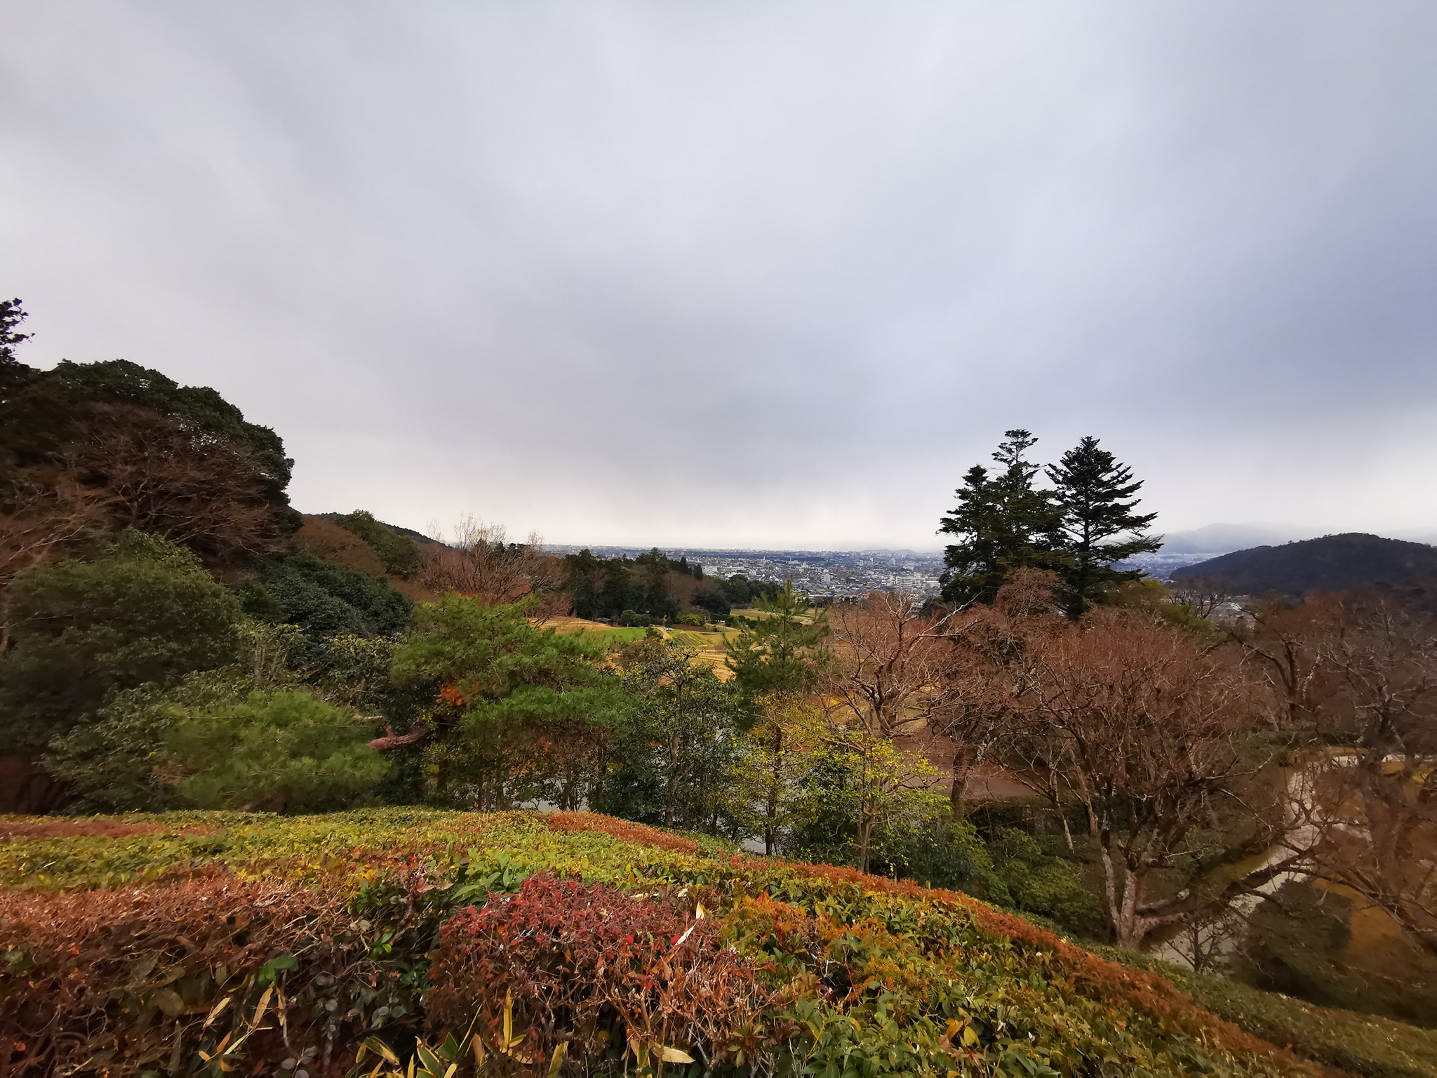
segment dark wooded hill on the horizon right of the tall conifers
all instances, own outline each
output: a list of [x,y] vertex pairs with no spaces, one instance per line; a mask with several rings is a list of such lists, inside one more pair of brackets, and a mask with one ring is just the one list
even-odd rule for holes
[[1173,579],[1210,576],[1246,595],[1280,592],[1302,596],[1377,584],[1398,585],[1428,573],[1437,573],[1437,548],[1348,532],[1234,550],[1174,569]]

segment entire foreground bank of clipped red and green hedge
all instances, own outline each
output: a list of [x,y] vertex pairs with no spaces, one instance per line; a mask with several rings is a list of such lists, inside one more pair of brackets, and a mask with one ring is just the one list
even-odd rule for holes
[[[964,895],[589,814],[0,837],[14,1075],[1321,1072]],[[1270,1016],[1249,1028],[1311,1054]],[[1392,1068],[1365,1072],[1431,1072]]]

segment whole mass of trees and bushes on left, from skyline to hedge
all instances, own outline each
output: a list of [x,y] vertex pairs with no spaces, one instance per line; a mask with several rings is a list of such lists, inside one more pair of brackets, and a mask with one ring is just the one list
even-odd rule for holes
[[[371,786],[389,765],[349,674],[412,599],[378,561],[296,546],[272,430],[126,361],[26,367],[23,319],[0,302],[4,808],[313,808]],[[415,571],[408,539],[341,523]]]

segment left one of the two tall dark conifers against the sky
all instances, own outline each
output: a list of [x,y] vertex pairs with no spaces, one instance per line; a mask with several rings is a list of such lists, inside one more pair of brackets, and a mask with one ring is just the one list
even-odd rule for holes
[[969,469],[958,505],[938,526],[940,533],[958,536],[943,559],[948,566],[943,596],[950,602],[992,602],[1012,569],[1059,569],[1066,561],[1062,507],[1052,492],[1033,486],[1040,467],[1025,459],[1038,438],[1026,430],[1004,431],[1004,437],[993,454],[1002,470]]

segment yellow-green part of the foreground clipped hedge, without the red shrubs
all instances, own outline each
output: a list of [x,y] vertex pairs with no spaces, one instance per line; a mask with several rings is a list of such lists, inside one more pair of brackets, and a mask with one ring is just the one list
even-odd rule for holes
[[[1423,1031],[1348,1016],[1354,1041],[1384,1029],[1390,1051],[1372,1059],[1355,1049],[1342,1055],[1332,1051],[1331,1018],[1302,1029],[1302,1016],[1318,1009],[1288,1013],[1270,1000],[1234,1003],[1210,985],[1184,985],[1233,1025],[1163,977],[1095,957],[964,895],[746,857],[716,839],[604,816],[388,809],[122,822],[0,821],[0,835],[10,835],[0,842],[0,887],[16,895],[134,887],[205,864],[355,895],[387,875],[418,871],[435,888],[433,898],[466,872],[496,865],[506,867],[506,884],[547,871],[625,890],[693,887],[740,953],[777,982],[787,979],[783,1018],[799,1031],[789,1049],[825,1075],[1302,1071],[1293,1056],[1237,1025],[1328,1065],[1374,1075],[1434,1072]],[[85,834],[96,831],[109,834]],[[6,901],[0,893],[0,923]],[[828,963],[844,966],[855,986],[846,1000],[819,1002],[803,987],[816,983],[805,966],[809,953],[785,944],[798,937],[808,952],[819,946]],[[950,1041],[969,1049],[954,1055]]]

